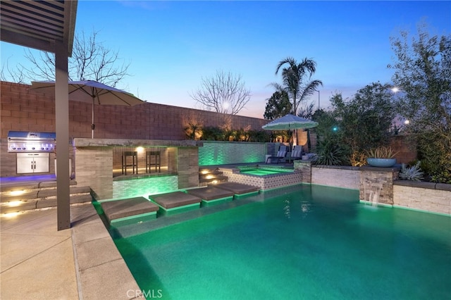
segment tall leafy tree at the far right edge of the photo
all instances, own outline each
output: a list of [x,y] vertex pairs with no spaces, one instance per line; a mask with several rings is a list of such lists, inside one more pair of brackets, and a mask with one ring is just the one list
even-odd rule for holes
[[451,35],[431,36],[426,24],[417,37],[391,37],[393,82],[400,87],[400,114],[417,143],[421,168],[433,181],[451,183]]

